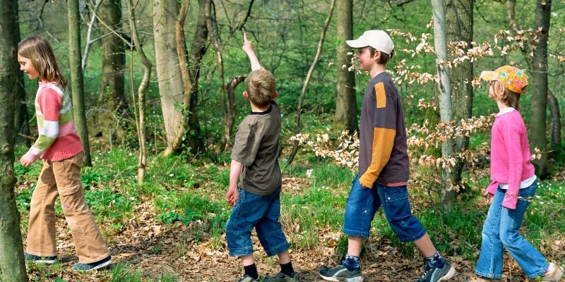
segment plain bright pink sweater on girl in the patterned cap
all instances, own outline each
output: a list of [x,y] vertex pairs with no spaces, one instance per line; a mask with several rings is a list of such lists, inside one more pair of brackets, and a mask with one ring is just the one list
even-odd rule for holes
[[530,144],[519,111],[496,115],[490,144],[490,179],[487,190],[494,194],[499,183],[508,183],[502,206],[516,209],[520,183],[534,175]]

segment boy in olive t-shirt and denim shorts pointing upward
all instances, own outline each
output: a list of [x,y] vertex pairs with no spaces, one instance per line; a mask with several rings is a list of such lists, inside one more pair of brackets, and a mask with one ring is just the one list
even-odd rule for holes
[[251,74],[243,92],[251,104],[251,114],[235,133],[230,188],[225,198],[233,207],[225,226],[227,247],[230,255],[242,257],[245,274],[238,282],[258,281],[251,241],[255,228],[267,255],[278,255],[280,260],[280,272],[263,281],[299,281],[290,262],[290,246],[278,221],[282,176],[278,165],[280,110],[273,101],[278,95],[275,78],[261,67],[246,35],[242,48],[251,61]]

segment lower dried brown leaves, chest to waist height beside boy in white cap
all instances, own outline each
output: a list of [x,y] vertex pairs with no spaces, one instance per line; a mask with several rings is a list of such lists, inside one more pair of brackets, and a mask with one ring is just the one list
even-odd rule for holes
[[[469,182],[476,182],[489,176],[489,143],[484,142],[472,149],[466,149],[449,157],[436,157],[429,149],[439,149],[442,142],[458,137],[470,137],[473,133],[489,130],[494,122],[494,115],[479,116],[455,123],[439,123],[433,127],[429,121],[422,125],[412,124],[407,128],[408,157],[410,157],[411,185],[424,190],[439,190],[441,171],[448,171],[456,165],[456,160],[463,162],[465,177],[459,183],[448,183],[448,190],[459,191]],[[314,152],[316,157],[333,159],[335,164],[356,170],[359,166],[359,139],[357,133],[350,135],[343,131],[339,137],[331,137],[330,130],[315,134],[293,135],[288,140],[299,142]],[[541,157],[540,149],[535,148],[532,159]]]

